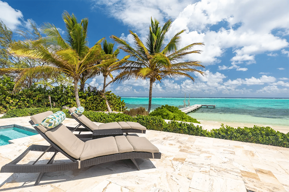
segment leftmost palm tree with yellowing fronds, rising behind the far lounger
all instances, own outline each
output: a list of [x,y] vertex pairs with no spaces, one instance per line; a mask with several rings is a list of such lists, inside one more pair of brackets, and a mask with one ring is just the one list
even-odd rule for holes
[[3,73],[18,73],[15,79],[15,88],[27,77],[42,76],[54,77],[59,73],[64,73],[73,78],[74,93],[77,106],[80,106],[78,96],[78,81],[81,74],[87,71],[97,73],[96,65],[102,60],[101,40],[92,48],[87,46],[87,25],[88,19],[81,19],[77,22],[75,15],[69,15],[65,11],[62,15],[66,24],[67,39],[63,39],[57,28],[46,23],[43,26],[43,32],[47,37],[38,40],[19,41],[11,45],[11,53],[17,56],[24,56],[33,59],[39,59],[47,65],[31,68],[10,68],[0,69]]

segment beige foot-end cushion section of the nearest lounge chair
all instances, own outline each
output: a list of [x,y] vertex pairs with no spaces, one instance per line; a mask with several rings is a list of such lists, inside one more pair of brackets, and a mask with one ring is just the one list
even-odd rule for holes
[[126,139],[133,146],[134,151],[151,152],[151,153],[159,152],[159,149],[145,137],[126,136]]

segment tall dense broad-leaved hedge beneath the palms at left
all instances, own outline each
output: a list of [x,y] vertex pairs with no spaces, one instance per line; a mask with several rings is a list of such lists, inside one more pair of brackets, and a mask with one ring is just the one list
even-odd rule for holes
[[[69,107],[76,106],[73,86],[56,86],[52,89],[32,86],[13,94],[14,82],[8,77],[0,79],[0,113],[6,113],[11,109],[23,109],[30,107],[50,107],[49,95],[52,106],[61,108],[66,105]],[[107,106],[103,97],[90,87],[85,91],[79,91],[81,106],[91,111],[107,111]],[[105,93],[112,111],[125,110],[125,102],[121,101],[111,91]]]

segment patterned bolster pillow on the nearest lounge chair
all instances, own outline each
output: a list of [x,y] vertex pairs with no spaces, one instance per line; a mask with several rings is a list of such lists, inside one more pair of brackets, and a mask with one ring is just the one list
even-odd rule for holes
[[42,125],[43,127],[50,129],[62,123],[65,117],[66,116],[63,111],[57,111],[56,113],[49,115],[48,117],[43,119],[43,121],[40,124],[33,125],[33,127]]

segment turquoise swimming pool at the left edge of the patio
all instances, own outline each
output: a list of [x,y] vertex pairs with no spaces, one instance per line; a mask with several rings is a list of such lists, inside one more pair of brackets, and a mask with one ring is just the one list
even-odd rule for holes
[[9,140],[37,135],[37,131],[32,128],[20,125],[0,126],[0,146],[10,144]]

